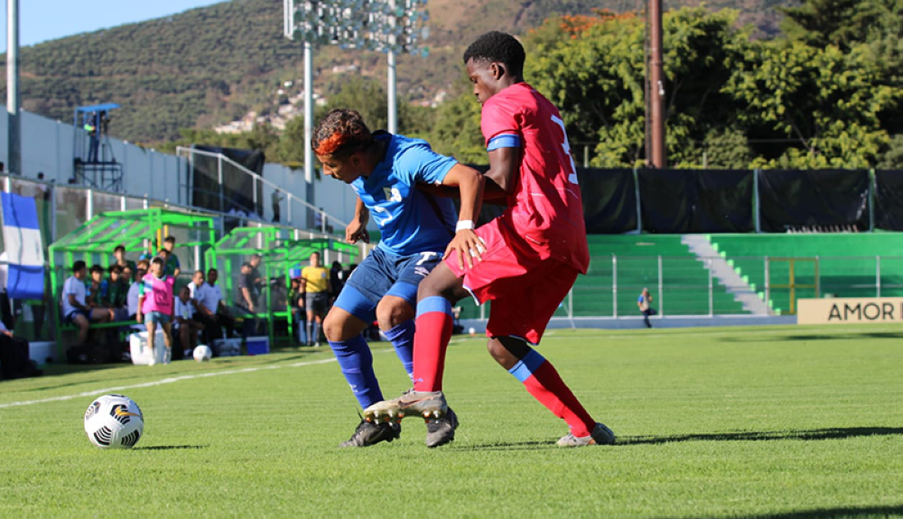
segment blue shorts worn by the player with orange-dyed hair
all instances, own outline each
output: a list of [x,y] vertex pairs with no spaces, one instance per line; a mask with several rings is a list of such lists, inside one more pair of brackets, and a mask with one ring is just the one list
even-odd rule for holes
[[335,306],[364,322],[376,320],[377,304],[386,295],[400,297],[416,309],[417,286],[440,261],[442,252],[397,256],[377,247],[351,273]]

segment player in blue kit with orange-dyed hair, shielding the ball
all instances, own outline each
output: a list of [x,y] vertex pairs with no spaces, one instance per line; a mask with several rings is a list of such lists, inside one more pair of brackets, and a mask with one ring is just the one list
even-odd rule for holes
[[[479,246],[472,231],[479,201],[462,203],[456,216],[451,199],[435,198],[417,189],[417,184],[457,187],[461,199],[480,200],[484,179],[479,171],[433,152],[425,141],[382,131],[371,134],[354,110],[331,110],[314,129],[311,147],[323,171],[350,184],[358,194],[355,218],[345,229],[349,243],[369,241],[371,216],[382,233],[382,240],[349,277],[323,322],[342,375],[366,409],[381,402],[383,395],[361,333],[376,319],[410,376],[418,285],[443,256]],[[452,410],[428,421],[427,446],[453,440],[457,423]],[[395,440],[400,434],[397,423],[361,420],[340,446],[367,447]]]

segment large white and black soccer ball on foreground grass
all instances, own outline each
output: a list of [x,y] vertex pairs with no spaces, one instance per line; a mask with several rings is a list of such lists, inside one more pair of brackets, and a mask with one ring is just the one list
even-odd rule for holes
[[100,449],[131,449],[144,432],[144,414],[122,394],[106,394],[85,412],[88,440]]

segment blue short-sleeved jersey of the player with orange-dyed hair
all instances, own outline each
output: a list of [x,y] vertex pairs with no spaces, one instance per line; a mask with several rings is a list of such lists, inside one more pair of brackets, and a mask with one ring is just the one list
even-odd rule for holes
[[389,141],[386,156],[351,187],[382,233],[378,247],[394,255],[444,252],[458,221],[454,203],[417,190],[416,183],[442,183],[458,161],[433,152],[420,139],[385,132],[373,136]]

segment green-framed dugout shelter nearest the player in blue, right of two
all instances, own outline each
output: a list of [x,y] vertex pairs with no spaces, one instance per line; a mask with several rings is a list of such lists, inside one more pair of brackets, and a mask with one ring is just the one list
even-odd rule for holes
[[265,320],[270,344],[275,344],[275,320],[286,320],[293,337],[292,309],[289,308],[288,286],[292,271],[308,261],[313,253],[320,253],[322,264],[330,255],[341,260],[360,254],[358,246],[333,238],[294,239],[293,229],[284,227],[236,227],[219,239],[207,251],[206,263],[219,271],[223,301],[242,301],[237,292],[241,265],[251,256],[260,255],[261,278],[256,305],[260,310],[251,313],[247,308],[232,304],[235,317],[244,320]]

